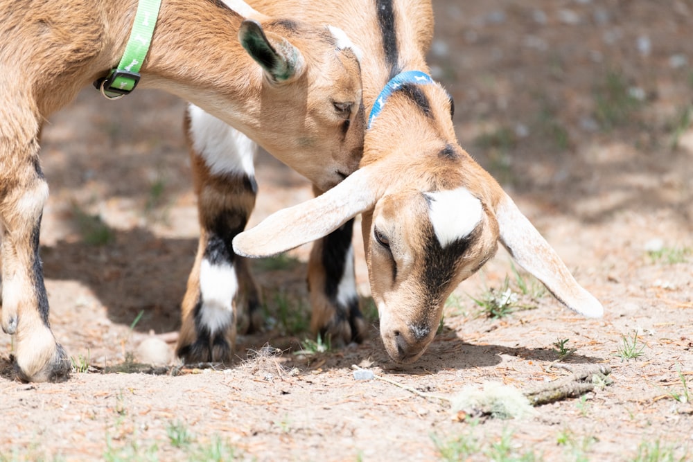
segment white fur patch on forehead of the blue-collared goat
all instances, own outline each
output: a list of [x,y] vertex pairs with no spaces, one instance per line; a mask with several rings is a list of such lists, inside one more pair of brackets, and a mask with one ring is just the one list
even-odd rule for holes
[[465,238],[482,219],[481,201],[466,188],[426,193],[428,217],[442,247]]

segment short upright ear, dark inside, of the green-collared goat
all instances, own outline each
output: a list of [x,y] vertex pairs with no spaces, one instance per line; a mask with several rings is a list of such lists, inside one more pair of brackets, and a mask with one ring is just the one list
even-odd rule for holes
[[238,39],[273,82],[286,82],[303,72],[304,57],[299,49],[277,34],[265,33],[255,19],[240,24]]

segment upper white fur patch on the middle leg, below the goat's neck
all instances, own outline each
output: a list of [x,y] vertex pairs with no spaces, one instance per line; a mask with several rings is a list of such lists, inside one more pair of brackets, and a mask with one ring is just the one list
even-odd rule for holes
[[204,159],[212,175],[255,176],[257,145],[254,141],[195,105],[190,105],[189,114],[193,149]]

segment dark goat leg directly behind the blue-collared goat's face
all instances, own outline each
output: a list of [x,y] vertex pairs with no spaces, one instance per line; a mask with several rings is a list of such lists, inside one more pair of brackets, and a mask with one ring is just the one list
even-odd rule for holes
[[367,337],[358,307],[352,237],[353,219],[315,241],[308,260],[310,328],[337,346],[361,343]]

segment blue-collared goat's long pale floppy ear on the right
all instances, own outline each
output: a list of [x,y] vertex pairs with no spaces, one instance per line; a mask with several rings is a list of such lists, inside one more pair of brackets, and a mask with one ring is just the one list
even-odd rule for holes
[[495,212],[500,242],[514,260],[541,281],[563,305],[586,317],[602,317],[604,307],[575,281],[561,258],[506,194]]

